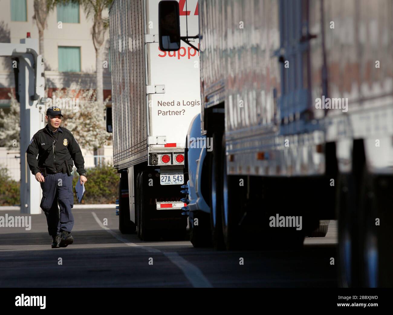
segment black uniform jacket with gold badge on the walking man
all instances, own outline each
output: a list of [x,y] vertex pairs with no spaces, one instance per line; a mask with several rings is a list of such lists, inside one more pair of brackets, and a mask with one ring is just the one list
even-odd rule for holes
[[65,160],[68,161],[68,165],[75,163],[79,174],[86,172],[81,148],[66,128],[59,127],[56,132],[52,132],[46,125],[33,135],[26,153],[33,175],[44,167],[53,173],[59,172],[65,167]]

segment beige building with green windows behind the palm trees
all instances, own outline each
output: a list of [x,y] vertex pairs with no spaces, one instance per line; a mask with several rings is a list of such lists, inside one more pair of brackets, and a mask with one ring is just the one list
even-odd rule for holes
[[[0,1],[0,43],[19,43],[29,32],[39,38],[33,19],[34,0]],[[108,15],[106,10],[103,15]],[[44,30],[44,59],[46,87],[49,91],[70,87],[80,82],[81,88],[95,88],[95,49],[92,41],[93,17],[86,19],[81,6],[68,4],[55,7],[48,15]],[[104,60],[104,98],[110,95],[109,32]],[[60,56],[60,58],[59,58]],[[11,59],[0,57],[0,107],[7,110],[7,94],[15,88]]]

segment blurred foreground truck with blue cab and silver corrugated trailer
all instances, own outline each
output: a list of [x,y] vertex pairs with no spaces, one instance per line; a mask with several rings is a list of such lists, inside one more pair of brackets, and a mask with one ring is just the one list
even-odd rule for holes
[[393,285],[392,20],[390,0],[199,1],[195,246],[301,245],[338,219],[340,284]]

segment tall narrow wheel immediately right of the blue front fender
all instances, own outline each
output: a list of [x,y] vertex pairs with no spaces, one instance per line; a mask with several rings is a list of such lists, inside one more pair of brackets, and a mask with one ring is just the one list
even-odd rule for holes
[[221,157],[222,133],[213,133],[213,151],[210,152],[209,174],[210,174],[210,226],[211,238],[215,249],[225,249],[222,236],[221,206],[222,184],[220,176],[220,157]]

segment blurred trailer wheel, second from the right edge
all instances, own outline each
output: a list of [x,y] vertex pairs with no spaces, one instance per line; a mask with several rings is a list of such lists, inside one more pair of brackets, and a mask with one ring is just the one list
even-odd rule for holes
[[353,174],[340,174],[336,210],[338,218],[338,280],[342,287],[357,287],[358,258],[358,195]]

